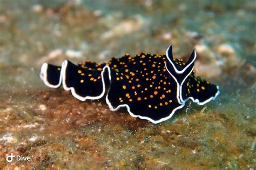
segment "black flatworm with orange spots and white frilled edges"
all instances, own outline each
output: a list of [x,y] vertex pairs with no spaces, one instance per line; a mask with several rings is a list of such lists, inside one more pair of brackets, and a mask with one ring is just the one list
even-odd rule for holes
[[140,53],[131,57],[111,58],[108,63],[86,60],[75,65],[64,60],[62,66],[44,63],[40,77],[45,85],[71,90],[74,97],[100,99],[106,93],[111,111],[126,107],[132,117],[146,119],[154,124],[170,119],[188,99],[204,105],[214,100],[219,87],[196,77],[193,50],[186,63],[172,56],[172,46],[166,55]]

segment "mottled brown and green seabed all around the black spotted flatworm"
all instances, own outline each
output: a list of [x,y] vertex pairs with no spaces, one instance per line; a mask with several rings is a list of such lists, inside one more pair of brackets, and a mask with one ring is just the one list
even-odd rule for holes
[[[0,168],[254,169],[255,1],[0,0]],[[45,62],[107,62],[197,49],[197,75],[220,86],[160,125],[80,102],[39,78]],[[10,153],[33,155],[8,163]]]

